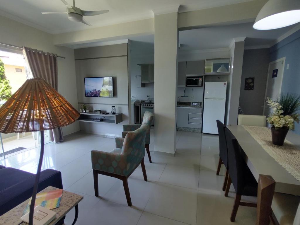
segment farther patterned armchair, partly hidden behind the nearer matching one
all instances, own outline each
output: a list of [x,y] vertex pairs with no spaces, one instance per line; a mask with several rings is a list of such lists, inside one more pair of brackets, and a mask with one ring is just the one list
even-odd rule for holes
[[[150,155],[150,150],[149,150],[149,144],[150,144],[150,129],[151,129],[151,124],[152,120],[154,118],[153,113],[146,111],[143,116],[143,122],[142,124],[146,123],[148,124],[149,128],[146,133],[146,139],[145,139],[145,149],[148,154],[149,162],[152,163],[151,160],[151,155]],[[129,124],[129,125],[123,125],[123,132],[122,132],[122,137],[124,138],[127,132],[129,131],[135,131],[138,129],[142,124]]]

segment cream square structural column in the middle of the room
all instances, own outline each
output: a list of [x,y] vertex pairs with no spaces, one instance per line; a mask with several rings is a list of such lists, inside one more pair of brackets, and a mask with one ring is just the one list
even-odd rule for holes
[[155,152],[175,153],[178,28],[176,12],[159,14],[155,21]]

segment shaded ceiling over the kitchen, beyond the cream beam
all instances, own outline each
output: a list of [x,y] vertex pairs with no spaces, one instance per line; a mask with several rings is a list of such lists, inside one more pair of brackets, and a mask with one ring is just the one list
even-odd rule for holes
[[[214,26],[179,32],[179,53],[185,51],[228,48],[233,38],[246,37],[245,49],[268,48],[278,38],[299,24],[269,31],[253,29],[253,23],[241,23],[227,26]],[[132,50],[135,52],[154,52],[154,35],[130,38]],[[100,43],[97,43],[98,45]],[[85,47],[85,46],[77,46]]]

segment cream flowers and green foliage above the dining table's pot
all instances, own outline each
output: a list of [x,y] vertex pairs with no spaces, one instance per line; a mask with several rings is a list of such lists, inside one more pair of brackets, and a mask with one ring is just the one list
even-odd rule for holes
[[294,130],[295,122],[299,123],[300,96],[294,94],[281,94],[277,97],[277,101],[268,98],[267,101],[273,110],[270,117],[267,118],[268,123],[274,128],[286,128]]

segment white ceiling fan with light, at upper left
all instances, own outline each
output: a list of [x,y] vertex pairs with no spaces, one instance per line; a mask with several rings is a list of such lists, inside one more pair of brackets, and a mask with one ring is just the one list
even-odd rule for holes
[[[68,14],[68,19],[70,19],[71,21],[74,22],[82,22],[88,26],[92,26],[90,23],[88,23],[87,21],[85,21],[85,19],[83,19],[83,16],[96,16],[96,15],[100,15],[103,13],[108,13],[110,10],[101,10],[101,11],[85,11],[85,10],[81,10],[77,7],[75,7],[75,0],[73,0],[73,6],[71,6],[69,3],[67,3],[67,1],[65,0],[61,0],[66,6],[67,6],[67,11],[63,12],[63,13],[67,13]],[[47,13],[42,13],[42,14],[61,14],[60,12],[47,12]]]

